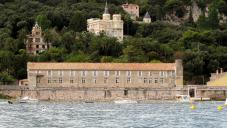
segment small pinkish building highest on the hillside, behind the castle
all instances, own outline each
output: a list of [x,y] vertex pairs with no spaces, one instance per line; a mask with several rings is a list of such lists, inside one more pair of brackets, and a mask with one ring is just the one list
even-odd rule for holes
[[140,17],[139,5],[126,3],[121,7],[131,16],[131,19],[136,20],[136,18]]

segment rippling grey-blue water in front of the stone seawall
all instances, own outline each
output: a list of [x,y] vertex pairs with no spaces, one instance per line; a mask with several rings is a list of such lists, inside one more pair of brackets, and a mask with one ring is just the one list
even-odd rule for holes
[[[227,128],[224,102],[141,104],[0,102],[0,128]],[[45,108],[45,109],[43,109]]]

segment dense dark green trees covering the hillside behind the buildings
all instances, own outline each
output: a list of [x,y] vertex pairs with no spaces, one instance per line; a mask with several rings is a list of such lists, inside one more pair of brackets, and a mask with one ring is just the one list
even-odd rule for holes
[[[181,58],[185,83],[203,84],[217,68],[227,70],[227,24],[219,19],[227,14],[227,0],[194,0],[203,11],[196,23],[163,22],[166,15],[183,17],[192,1],[128,0],[140,5],[141,16],[149,11],[151,24],[132,21],[120,7],[126,0],[110,1],[110,13],[121,13],[124,20],[126,37],[118,42],[104,33],[86,32],[86,20],[101,17],[104,0],[1,0],[0,82],[26,78],[28,61],[142,63]],[[53,47],[29,56],[25,40],[35,21]]]

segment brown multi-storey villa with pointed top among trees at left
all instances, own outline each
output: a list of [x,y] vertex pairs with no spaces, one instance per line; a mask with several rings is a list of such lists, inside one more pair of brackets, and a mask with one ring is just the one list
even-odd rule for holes
[[32,28],[31,35],[27,36],[26,51],[28,54],[37,55],[43,51],[48,50],[51,47],[51,43],[46,43],[42,36],[42,29],[36,22]]

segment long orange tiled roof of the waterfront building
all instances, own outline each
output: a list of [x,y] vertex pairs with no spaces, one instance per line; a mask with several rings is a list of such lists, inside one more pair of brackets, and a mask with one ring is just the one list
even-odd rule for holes
[[28,70],[175,70],[175,63],[33,63]]

